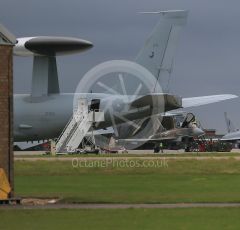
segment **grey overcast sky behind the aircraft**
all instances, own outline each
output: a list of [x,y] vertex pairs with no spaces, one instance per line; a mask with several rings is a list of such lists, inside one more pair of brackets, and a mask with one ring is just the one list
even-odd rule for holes
[[[112,59],[133,60],[158,22],[139,11],[189,10],[171,76],[182,97],[240,95],[240,2],[237,0],[2,0],[0,22],[17,37],[76,36],[90,40],[86,53],[58,58],[62,92],[74,92],[90,68]],[[14,58],[15,93],[28,93],[32,59]],[[204,128],[226,132],[224,111],[240,128],[240,99],[192,109]]]

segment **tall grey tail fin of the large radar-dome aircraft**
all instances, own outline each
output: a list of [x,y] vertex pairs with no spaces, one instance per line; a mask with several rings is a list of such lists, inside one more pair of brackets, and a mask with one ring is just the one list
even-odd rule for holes
[[178,45],[181,29],[186,24],[188,11],[172,10],[159,12],[142,12],[160,14],[161,19],[146,40],[135,61],[147,68],[164,91],[168,91],[169,76]]

